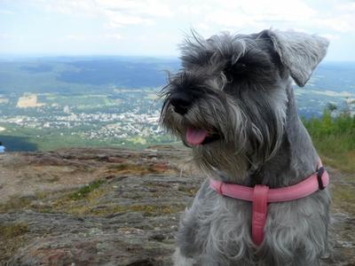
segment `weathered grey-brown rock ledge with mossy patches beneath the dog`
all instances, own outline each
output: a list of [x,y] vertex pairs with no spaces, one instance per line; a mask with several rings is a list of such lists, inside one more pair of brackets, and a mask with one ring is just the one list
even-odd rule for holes
[[[203,180],[188,160],[177,146],[1,155],[0,265],[171,265]],[[354,176],[331,174],[334,252],[322,263],[355,265]]]

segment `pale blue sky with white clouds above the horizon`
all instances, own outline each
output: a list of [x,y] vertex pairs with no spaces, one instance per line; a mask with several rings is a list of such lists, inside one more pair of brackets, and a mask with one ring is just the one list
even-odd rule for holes
[[190,28],[326,36],[327,60],[355,61],[355,1],[0,0],[0,55],[176,57]]

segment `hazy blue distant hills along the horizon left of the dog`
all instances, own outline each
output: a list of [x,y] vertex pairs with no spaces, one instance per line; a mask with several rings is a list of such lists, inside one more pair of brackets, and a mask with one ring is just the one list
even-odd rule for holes
[[44,58],[0,61],[0,94],[24,92],[81,93],[158,87],[165,71],[176,71],[177,59],[130,57]]

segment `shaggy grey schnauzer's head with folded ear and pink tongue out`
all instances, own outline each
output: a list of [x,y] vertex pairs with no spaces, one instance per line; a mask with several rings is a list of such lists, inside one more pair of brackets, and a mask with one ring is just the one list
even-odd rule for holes
[[193,148],[202,168],[256,167],[280,145],[289,76],[304,86],[327,45],[297,32],[193,34],[181,46],[183,68],[162,90],[162,125]]

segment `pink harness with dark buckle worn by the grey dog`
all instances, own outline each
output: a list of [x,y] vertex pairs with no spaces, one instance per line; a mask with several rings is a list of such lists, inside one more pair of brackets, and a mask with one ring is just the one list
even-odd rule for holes
[[256,184],[253,188],[240,184],[227,184],[212,178],[209,180],[210,187],[219,194],[234,199],[253,202],[251,235],[256,246],[259,246],[264,239],[264,226],[266,223],[268,202],[298,200],[325,189],[328,184],[329,176],[320,160],[319,169],[312,174],[312,176],[307,177],[298,184],[278,189],[269,189],[269,187],[264,184]]

